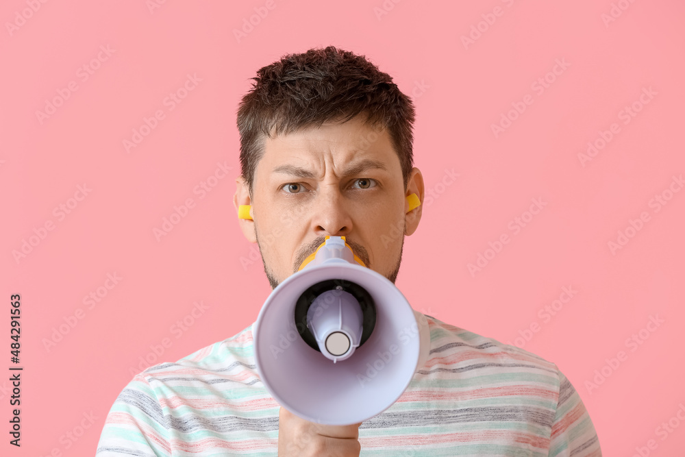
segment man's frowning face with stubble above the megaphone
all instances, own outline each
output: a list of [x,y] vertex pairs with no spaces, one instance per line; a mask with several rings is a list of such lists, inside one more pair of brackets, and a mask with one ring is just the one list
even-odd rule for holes
[[249,204],[271,287],[295,273],[326,236],[345,236],[366,267],[395,282],[404,235],[420,219],[420,210],[411,221],[406,214],[412,192],[423,200],[419,170],[405,190],[387,130],[364,126],[359,117],[266,138]]

